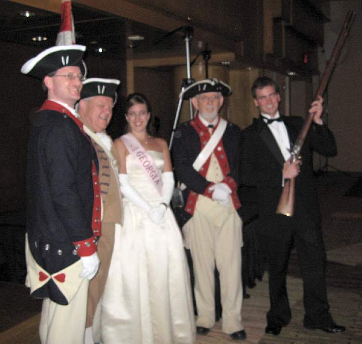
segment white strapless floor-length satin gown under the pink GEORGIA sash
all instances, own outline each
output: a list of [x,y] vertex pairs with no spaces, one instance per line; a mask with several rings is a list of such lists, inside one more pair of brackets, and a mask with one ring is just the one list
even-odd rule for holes
[[[163,156],[148,151],[162,171]],[[151,205],[161,196],[132,155],[126,158],[131,185]],[[116,232],[101,305],[103,344],[190,344],[195,341],[194,310],[183,240],[167,209],[157,225],[124,201],[124,224]]]

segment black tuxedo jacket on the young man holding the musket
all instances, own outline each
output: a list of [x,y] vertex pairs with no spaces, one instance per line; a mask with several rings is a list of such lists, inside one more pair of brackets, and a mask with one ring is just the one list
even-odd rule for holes
[[[303,126],[300,117],[282,116],[292,145]],[[313,176],[313,150],[325,156],[337,154],[333,133],[325,125],[313,124],[301,149],[303,164],[295,179],[294,218],[308,216],[319,224],[316,183]],[[282,192],[284,158],[272,132],[261,118],[242,132],[242,183],[256,186],[259,217],[264,231],[276,216]],[[270,229],[272,230],[272,229]]]

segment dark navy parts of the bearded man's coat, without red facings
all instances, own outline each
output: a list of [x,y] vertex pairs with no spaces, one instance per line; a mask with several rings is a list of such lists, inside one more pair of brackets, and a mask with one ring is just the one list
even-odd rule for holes
[[[222,136],[227,161],[230,166],[230,174],[236,184],[240,182],[240,129],[233,123],[228,122]],[[201,151],[201,142],[198,133],[189,123],[181,124],[175,132],[172,159],[176,180],[184,183],[187,188],[183,191],[185,203],[190,191],[203,194],[210,182],[196,171],[192,164]],[[183,227],[191,218],[184,209],[174,209],[178,225]],[[240,211],[238,211],[240,214]]]

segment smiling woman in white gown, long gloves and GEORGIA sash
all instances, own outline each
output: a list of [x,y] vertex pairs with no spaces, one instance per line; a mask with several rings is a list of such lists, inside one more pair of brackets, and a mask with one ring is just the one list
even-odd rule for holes
[[[114,141],[122,163],[119,180],[124,222],[122,231],[115,234],[102,298],[103,344],[195,341],[188,265],[179,228],[168,207],[174,186],[170,155],[165,140],[148,134],[149,118],[146,98],[130,95],[126,119],[132,136]],[[127,136],[131,141],[124,139]],[[133,150],[135,145],[138,150]],[[142,150],[145,157],[139,158]],[[155,175],[147,176],[152,169],[149,160],[159,171],[162,187]]]

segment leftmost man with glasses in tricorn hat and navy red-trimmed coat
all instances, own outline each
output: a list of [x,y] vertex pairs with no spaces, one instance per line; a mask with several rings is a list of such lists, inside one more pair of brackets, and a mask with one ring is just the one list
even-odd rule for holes
[[98,159],[74,110],[84,50],[51,47],[21,68],[48,93],[29,137],[26,174],[26,280],[44,299],[39,332],[47,344],[83,343],[88,280],[99,266]]

